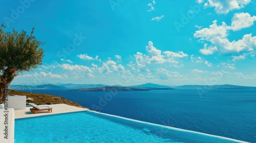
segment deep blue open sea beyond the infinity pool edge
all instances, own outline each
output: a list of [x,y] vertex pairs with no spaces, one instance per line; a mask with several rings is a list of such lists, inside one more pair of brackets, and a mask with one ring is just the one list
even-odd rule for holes
[[196,89],[78,92],[25,90],[135,120],[256,142],[256,90]]

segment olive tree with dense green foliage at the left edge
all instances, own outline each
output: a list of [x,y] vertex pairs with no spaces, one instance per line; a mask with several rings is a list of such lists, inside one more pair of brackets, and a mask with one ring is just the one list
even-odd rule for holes
[[4,31],[5,26],[0,27],[0,104],[3,102],[5,86],[10,85],[14,77],[24,71],[32,71],[37,65],[42,64],[44,50],[40,47],[42,42],[26,31]]

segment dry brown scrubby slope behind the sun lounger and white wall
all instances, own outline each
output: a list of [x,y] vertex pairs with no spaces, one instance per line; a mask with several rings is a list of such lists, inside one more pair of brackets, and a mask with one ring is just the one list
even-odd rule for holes
[[71,105],[71,106],[85,108],[85,107],[83,107],[75,102],[69,101],[65,98],[51,96],[48,94],[29,93],[29,92],[23,92],[23,91],[17,91],[17,90],[9,90],[9,96],[14,96],[14,95],[27,96],[27,105],[29,105],[29,103],[34,103],[36,105],[67,104],[67,105]]

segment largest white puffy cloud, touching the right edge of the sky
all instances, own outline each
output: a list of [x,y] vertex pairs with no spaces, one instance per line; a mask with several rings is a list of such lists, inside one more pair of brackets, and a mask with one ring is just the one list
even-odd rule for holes
[[204,55],[214,53],[220,54],[253,54],[256,50],[256,36],[245,34],[240,40],[229,41],[227,38],[229,31],[238,31],[243,28],[248,28],[253,25],[256,16],[251,16],[249,13],[234,14],[231,25],[228,26],[223,21],[221,25],[217,25],[217,20],[214,20],[209,28],[204,28],[196,31],[194,37],[199,38],[199,42],[211,42],[210,46],[204,45],[200,52]]

